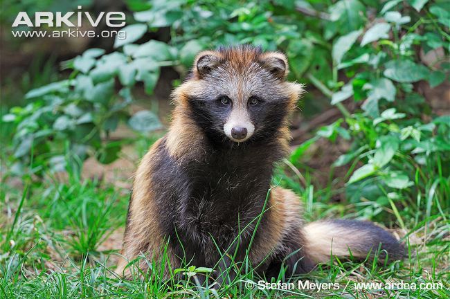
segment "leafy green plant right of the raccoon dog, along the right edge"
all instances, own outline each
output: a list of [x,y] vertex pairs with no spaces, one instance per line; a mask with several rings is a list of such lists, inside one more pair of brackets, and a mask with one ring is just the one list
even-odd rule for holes
[[[429,8],[428,1],[419,2],[408,6],[388,1],[371,24],[337,37],[332,46],[333,73],[340,71],[347,78],[328,86],[316,80],[345,116],[319,129],[317,136],[351,141],[348,153],[334,162],[336,167],[351,164],[345,176],[348,200],[370,203],[359,205],[364,217],[393,208],[402,226],[402,216],[413,210],[425,210],[426,216],[442,213],[449,208],[444,199],[450,195],[450,116],[424,122],[421,116],[431,109],[414,85],[425,80],[435,87],[447,78],[450,19],[439,14],[443,2]],[[445,17],[447,23],[442,22]],[[418,59],[419,53],[437,48],[442,51],[435,61],[426,65]],[[341,89],[328,89],[333,85]],[[363,111],[350,114],[342,105],[348,98]],[[396,207],[399,203],[401,209]]]

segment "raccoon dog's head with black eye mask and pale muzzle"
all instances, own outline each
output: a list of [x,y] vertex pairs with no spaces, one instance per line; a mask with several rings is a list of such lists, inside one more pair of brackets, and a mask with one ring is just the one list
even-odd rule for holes
[[287,73],[282,53],[262,53],[251,46],[204,51],[176,98],[215,141],[258,141],[286,125],[303,92],[301,84],[286,81]]

